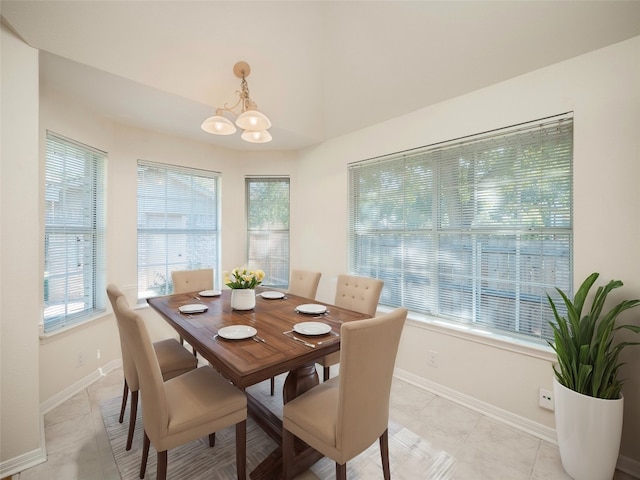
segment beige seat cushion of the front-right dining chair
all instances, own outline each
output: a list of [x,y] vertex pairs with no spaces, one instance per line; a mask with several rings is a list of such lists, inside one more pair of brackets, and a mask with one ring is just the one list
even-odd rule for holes
[[[316,449],[318,441],[335,449],[339,380],[334,377],[287,402],[283,409],[284,428]],[[314,432],[315,439],[309,437],[309,431]],[[330,456],[326,450],[321,451]]]

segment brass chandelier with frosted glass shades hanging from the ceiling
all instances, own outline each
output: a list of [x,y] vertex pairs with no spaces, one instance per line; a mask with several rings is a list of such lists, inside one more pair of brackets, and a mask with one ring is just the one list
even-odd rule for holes
[[[249,97],[247,78],[251,68],[247,62],[238,62],[233,66],[233,73],[242,79],[240,91],[236,91],[238,101],[232,107],[226,103],[224,107],[217,108],[216,114],[202,122],[202,129],[214,135],[232,135],[236,133],[236,126],[243,130],[242,139],[251,143],[267,143],[271,141],[271,134],[267,131],[271,128],[271,121],[264,113],[258,111],[258,106]],[[239,108],[239,113],[236,109]],[[228,112],[236,117],[235,125],[224,116]]]

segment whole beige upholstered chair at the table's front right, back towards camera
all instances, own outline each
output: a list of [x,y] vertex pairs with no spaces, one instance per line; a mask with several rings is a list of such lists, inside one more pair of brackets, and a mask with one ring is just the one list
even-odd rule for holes
[[293,478],[295,437],[336,462],[336,478],[346,479],[346,463],[380,440],[384,478],[389,471],[389,396],[398,344],[407,310],[343,323],[340,374],[284,405],[283,478]]

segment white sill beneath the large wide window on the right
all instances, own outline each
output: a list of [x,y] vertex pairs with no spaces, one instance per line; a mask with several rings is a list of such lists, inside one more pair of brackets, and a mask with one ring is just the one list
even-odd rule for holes
[[[387,313],[393,308],[379,306],[378,311]],[[535,357],[548,362],[556,361],[556,353],[548,345],[535,341],[509,337],[497,332],[474,327],[473,325],[454,324],[436,317],[409,312],[407,322],[417,328],[424,328],[443,335],[461,338],[470,342],[480,343],[493,348]]]

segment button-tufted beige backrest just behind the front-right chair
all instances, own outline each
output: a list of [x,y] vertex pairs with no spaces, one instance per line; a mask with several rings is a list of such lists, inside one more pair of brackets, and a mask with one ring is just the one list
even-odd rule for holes
[[384,282],[377,278],[338,275],[334,305],[375,316]]

